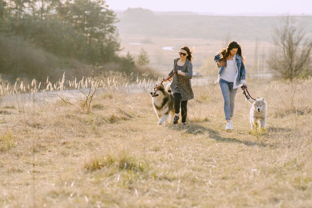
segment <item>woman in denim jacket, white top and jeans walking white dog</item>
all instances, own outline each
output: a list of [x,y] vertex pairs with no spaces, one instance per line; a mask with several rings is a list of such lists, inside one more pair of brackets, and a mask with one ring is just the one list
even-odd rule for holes
[[214,61],[220,68],[217,81],[219,81],[224,99],[224,114],[227,121],[225,130],[232,130],[237,88],[241,84],[246,85],[246,71],[241,46],[235,41],[230,42],[226,49],[222,49],[214,57]]

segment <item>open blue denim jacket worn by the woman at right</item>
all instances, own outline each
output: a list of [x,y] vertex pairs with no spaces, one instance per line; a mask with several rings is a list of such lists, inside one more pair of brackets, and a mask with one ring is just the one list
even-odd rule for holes
[[[214,61],[217,63],[220,60],[220,54],[217,54],[216,56],[214,56]],[[235,60],[235,67],[236,67],[236,79],[234,80],[234,85],[233,88],[238,88],[240,86],[240,84],[244,84],[245,79],[246,79],[246,70],[245,70],[245,64],[243,62],[243,59],[240,55],[238,55],[237,53],[234,55],[233,60]],[[218,66],[219,72],[218,72],[218,79],[217,82],[220,80],[220,76],[222,74],[222,72],[224,71],[224,69],[226,68],[226,66]]]

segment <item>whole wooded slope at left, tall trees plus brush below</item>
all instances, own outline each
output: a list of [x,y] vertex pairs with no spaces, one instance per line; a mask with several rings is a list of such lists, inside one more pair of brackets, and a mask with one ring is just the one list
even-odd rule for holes
[[0,74],[45,79],[77,72],[77,62],[131,73],[134,57],[118,56],[118,21],[105,0],[0,0]]

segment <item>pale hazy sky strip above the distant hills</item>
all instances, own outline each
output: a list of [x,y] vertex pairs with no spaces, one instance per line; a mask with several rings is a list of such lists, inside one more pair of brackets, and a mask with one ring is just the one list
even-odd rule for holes
[[214,14],[312,15],[312,0],[106,0],[110,9],[146,8]]

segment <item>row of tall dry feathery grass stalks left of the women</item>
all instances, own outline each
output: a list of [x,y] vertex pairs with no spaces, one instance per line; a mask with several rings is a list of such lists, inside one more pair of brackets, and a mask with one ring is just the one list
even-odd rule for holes
[[[90,66],[94,68],[94,71],[102,68],[102,66]],[[74,80],[65,80],[65,72],[63,73],[62,79],[58,80],[56,83],[52,83],[47,77],[44,83],[39,82],[35,79],[31,80],[30,84],[25,84],[23,81],[18,83],[16,81],[14,85],[9,82],[1,82],[0,83],[0,95],[15,95],[15,94],[24,94],[30,93],[35,94],[38,92],[47,93],[53,91],[64,92],[65,90],[75,89],[80,91],[88,100],[89,97],[92,96],[94,89],[102,88],[103,90],[124,90],[125,92],[131,91],[133,88],[147,91],[158,84],[161,80],[160,78],[155,82],[153,79],[143,80],[137,77],[136,81],[133,83],[129,83],[125,80],[125,77],[120,73],[110,73],[108,75],[103,75],[101,73],[94,73],[91,77],[82,77],[80,81],[77,81],[77,78]],[[127,78],[126,78],[127,79]],[[125,80],[125,82],[120,82]],[[92,89],[90,89],[90,87]],[[90,90],[92,92],[90,92]],[[66,99],[65,99],[66,100]]]

